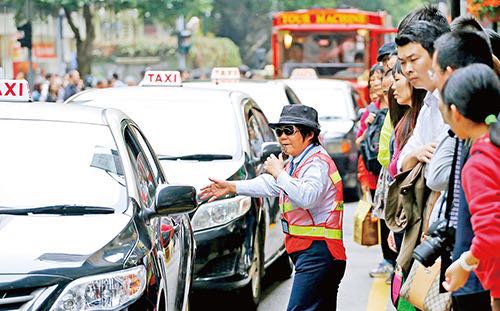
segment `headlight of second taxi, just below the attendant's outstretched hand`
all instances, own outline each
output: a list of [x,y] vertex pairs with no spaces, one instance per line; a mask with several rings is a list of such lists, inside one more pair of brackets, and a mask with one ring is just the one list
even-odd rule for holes
[[223,199],[200,205],[191,223],[193,230],[202,230],[227,224],[250,209],[251,199],[246,196]]

